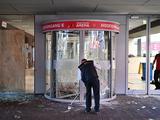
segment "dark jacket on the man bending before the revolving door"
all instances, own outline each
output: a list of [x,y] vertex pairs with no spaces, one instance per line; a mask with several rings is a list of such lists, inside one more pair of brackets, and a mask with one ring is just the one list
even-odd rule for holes
[[81,79],[84,83],[98,78],[93,61],[86,61],[79,65],[78,68],[81,70]]

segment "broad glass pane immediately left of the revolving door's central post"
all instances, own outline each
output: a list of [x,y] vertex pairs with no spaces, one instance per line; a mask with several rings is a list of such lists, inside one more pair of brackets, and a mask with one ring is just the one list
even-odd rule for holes
[[56,84],[58,97],[76,94],[79,89],[79,31],[59,31],[57,39]]

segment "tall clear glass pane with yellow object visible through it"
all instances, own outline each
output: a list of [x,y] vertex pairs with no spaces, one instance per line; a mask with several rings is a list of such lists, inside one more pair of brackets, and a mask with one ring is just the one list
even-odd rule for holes
[[129,19],[128,90],[146,88],[146,19]]

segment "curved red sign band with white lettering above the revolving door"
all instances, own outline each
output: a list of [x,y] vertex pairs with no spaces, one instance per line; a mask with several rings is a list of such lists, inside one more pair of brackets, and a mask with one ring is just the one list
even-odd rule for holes
[[43,32],[57,30],[104,30],[119,32],[120,26],[116,22],[97,20],[78,20],[48,22],[42,25]]

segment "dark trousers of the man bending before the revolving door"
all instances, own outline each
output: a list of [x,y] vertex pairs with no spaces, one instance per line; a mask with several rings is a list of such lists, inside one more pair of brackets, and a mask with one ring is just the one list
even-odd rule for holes
[[90,110],[92,105],[92,88],[94,94],[95,110],[99,110],[100,84],[98,78],[94,78],[85,83],[86,86],[86,109]]

